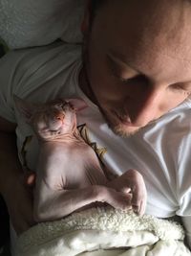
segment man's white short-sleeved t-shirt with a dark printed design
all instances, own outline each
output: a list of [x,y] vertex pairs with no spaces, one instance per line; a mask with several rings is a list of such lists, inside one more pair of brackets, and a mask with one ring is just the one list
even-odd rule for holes
[[77,123],[101,161],[117,175],[137,169],[148,192],[146,213],[159,218],[179,215],[191,232],[191,101],[137,134],[121,138],[80,90],[80,68],[80,45],[64,43],[15,51],[0,59],[0,116],[18,124],[20,160],[35,170],[38,147],[32,129],[14,107],[13,94],[32,103],[83,98],[88,107],[77,114]]

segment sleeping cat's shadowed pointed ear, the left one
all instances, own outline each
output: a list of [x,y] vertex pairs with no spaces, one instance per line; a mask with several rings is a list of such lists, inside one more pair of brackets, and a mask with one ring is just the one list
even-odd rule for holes
[[34,105],[31,103],[26,102],[25,100],[22,100],[15,94],[13,95],[13,101],[16,105],[16,108],[19,110],[19,112],[23,115],[27,123],[30,123]]

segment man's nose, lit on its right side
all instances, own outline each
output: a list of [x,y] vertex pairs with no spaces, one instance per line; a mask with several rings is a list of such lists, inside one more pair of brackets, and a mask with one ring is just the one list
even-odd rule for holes
[[133,126],[144,127],[162,114],[164,92],[153,88],[141,91],[128,106],[129,117]]

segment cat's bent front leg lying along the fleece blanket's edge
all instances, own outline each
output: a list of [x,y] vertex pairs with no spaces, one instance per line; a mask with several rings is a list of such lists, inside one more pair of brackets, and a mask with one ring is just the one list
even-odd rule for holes
[[34,194],[34,219],[37,222],[59,220],[93,202],[105,202],[124,210],[130,207],[131,197],[100,185],[56,191],[41,180]]

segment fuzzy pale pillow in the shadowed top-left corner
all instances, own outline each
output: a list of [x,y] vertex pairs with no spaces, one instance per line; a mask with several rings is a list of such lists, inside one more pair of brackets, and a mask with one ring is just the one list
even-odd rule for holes
[[0,37],[11,49],[57,38],[80,42],[85,0],[0,0]]

